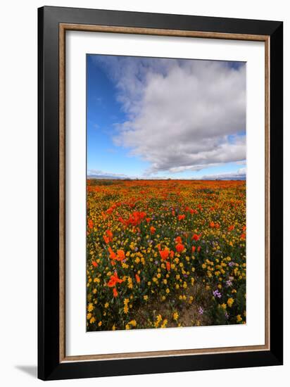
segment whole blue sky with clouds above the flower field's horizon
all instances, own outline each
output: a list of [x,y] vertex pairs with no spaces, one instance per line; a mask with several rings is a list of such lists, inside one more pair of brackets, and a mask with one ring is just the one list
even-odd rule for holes
[[245,70],[87,55],[87,175],[244,179]]

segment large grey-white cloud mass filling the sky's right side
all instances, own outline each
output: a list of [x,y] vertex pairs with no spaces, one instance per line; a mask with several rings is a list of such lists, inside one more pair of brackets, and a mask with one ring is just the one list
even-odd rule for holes
[[146,174],[198,171],[246,158],[246,69],[222,61],[96,56],[127,115],[114,142]]

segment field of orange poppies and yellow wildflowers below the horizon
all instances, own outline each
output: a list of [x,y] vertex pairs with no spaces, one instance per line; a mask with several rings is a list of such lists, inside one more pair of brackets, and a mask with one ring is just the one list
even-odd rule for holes
[[87,180],[87,331],[246,322],[246,182]]

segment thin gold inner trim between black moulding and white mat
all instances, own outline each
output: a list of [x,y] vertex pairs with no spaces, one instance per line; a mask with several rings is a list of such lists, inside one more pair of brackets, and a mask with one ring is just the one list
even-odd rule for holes
[[[171,37],[199,37],[265,42],[265,344],[239,347],[200,348],[188,350],[160,350],[102,355],[65,355],[65,32],[113,32]],[[164,357],[210,353],[237,353],[270,350],[270,37],[268,35],[227,34],[183,30],[160,30],[107,25],[59,25],[59,360],[60,362],[117,360],[137,357]]]

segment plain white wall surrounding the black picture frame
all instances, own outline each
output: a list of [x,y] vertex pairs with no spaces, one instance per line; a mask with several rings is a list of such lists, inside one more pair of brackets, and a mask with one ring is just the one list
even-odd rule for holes
[[[37,7],[42,1],[6,1],[1,5],[1,190],[0,190],[0,381],[3,386],[34,386],[37,362]],[[284,20],[284,68],[289,63],[290,20],[287,2],[276,0],[240,2],[203,1],[134,1],[99,0],[49,1],[45,5],[122,9],[158,13],[183,13],[233,18]],[[288,43],[288,47],[287,47]],[[286,49],[287,48],[287,49]],[[285,75],[285,96],[289,77]],[[285,99],[284,106],[287,106]],[[289,113],[285,109],[285,124]],[[3,138],[2,138],[3,137]],[[285,131],[285,149],[289,134]],[[286,152],[285,152],[286,153]],[[288,152],[289,153],[289,152]],[[289,175],[289,156],[285,156],[285,173]],[[285,197],[289,196],[289,179]],[[285,232],[289,234],[289,205],[285,204]],[[287,222],[288,220],[288,222]],[[286,238],[285,238],[286,239]],[[289,239],[289,238],[288,238]],[[289,243],[285,246],[285,258]],[[285,262],[285,273],[289,265]],[[285,284],[285,326],[289,324],[289,283]],[[215,387],[234,384],[244,386],[254,380],[263,386],[286,385],[290,377],[289,334],[285,331],[285,365],[258,369],[235,369],[148,376],[88,379],[51,382],[63,386],[167,386],[203,385]]]

